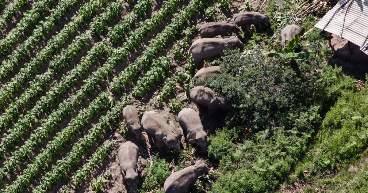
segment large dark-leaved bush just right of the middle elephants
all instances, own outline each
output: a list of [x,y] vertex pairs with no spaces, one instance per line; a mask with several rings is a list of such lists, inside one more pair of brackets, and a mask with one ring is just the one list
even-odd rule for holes
[[[319,91],[322,97],[330,94],[327,87],[341,79],[331,68],[325,67],[325,63],[285,62],[264,58],[261,54],[241,55],[238,51],[229,52],[220,62],[219,74],[203,81],[233,102],[234,119],[228,128],[235,129],[234,137],[245,128],[258,132],[279,125],[280,119],[289,117],[291,110],[333,102],[328,101],[329,96],[327,99],[316,97],[321,94]],[[329,77],[323,77],[325,75]]]

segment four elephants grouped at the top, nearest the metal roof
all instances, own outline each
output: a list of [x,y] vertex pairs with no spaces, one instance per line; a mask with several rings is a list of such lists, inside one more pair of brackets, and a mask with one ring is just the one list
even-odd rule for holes
[[[190,46],[188,53],[192,54],[196,68],[203,61],[215,56],[223,56],[224,50],[244,49],[244,44],[236,36],[227,36],[233,32],[245,32],[247,26],[254,25],[259,30],[261,25],[270,26],[270,18],[267,14],[255,11],[244,11],[234,17],[233,22],[209,22],[201,26],[199,34],[201,38],[195,40]],[[281,47],[285,47],[285,41],[290,41],[300,32],[297,25],[287,25],[281,32]],[[214,38],[216,36],[222,38]]]

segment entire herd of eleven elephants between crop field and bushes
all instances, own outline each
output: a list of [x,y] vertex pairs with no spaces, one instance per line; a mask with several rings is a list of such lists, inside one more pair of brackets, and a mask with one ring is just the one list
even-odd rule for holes
[[[238,26],[245,31],[247,26],[252,24],[258,30],[261,24],[270,26],[270,19],[268,15],[258,12],[241,12],[234,17],[234,22],[210,22],[202,25],[199,29],[202,38],[193,42],[189,49],[196,66],[202,64],[205,59],[223,55],[223,51],[226,49],[240,48],[243,50],[244,45],[236,36],[229,37],[226,35],[240,31]],[[285,40],[291,40],[299,32],[300,28],[296,25],[286,26],[282,30],[281,46],[284,47]],[[223,36],[223,38],[214,38],[218,35]],[[201,80],[206,76],[220,69],[219,66],[199,69],[194,76],[198,82],[189,93],[189,98],[197,104],[198,108],[207,107],[209,114],[214,114],[218,109],[227,110],[232,106],[230,101],[219,97],[218,93],[209,87],[204,87],[201,83]],[[137,136],[138,142],[141,142],[141,134],[144,130],[151,147],[157,143],[161,149],[180,151],[182,134],[174,121],[167,123],[166,119],[155,111],[144,112],[140,121],[134,106],[126,106],[123,109],[123,117],[128,129]],[[197,111],[191,108],[183,108],[178,113],[178,121],[183,130],[187,147],[189,143],[197,144],[202,153],[207,154],[207,136],[209,133],[205,131]],[[120,172],[131,192],[137,192],[138,190],[138,154],[138,146],[132,142],[123,143],[118,150]],[[189,167],[171,174],[164,183],[164,191],[165,193],[184,193],[194,186],[198,177],[207,174],[207,165],[205,162],[198,160]]]

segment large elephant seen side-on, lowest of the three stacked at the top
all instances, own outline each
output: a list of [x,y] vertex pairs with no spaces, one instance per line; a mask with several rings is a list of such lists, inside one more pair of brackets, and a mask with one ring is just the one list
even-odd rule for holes
[[203,63],[203,60],[223,56],[224,50],[244,49],[243,43],[236,36],[225,36],[221,38],[202,38],[195,40],[190,46],[188,53],[192,53],[195,64]]

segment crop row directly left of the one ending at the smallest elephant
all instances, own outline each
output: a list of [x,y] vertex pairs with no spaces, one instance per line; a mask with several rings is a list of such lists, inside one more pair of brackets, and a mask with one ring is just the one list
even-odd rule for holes
[[[43,167],[47,167],[47,164],[52,160],[53,156],[55,156],[57,153],[63,150],[65,146],[67,146],[67,143],[75,135],[77,135],[77,132],[81,130],[85,124],[88,123],[89,119],[98,114],[103,107],[108,106],[111,103],[113,103],[113,98],[108,93],[100,93],[98,97],[89,104],[88,108],[79,111],[79,114],[73,119],[73,122],[68,124],[66,128],[62,129],[61,132],[56,134],[56,137],[54,137],[52,141],[47,143],[46,148],[40,151],[41,153],[35,157],[32,164],[28,164],[28,167],[23,170],[22,175],[18,176],[17,180],[15,180],[12,185],[5,186],[7,191],[21,192],[24,186],[27,186],[29,183],[31,183],[32,178],[40,173],[40,170]],[[47,133],[33,134],[33,136],[36,135],[47,135]],[[36,140],[32,141],[32,143],[41,142],[41,139],[35,139]],[[29,143],[25,143],[24,146],[27,146],[28,144]],[[32,147],[29,147],[28,149],[31,150]],[[1,174],[2,176],[4,175],[3,172],[1,172]]]

